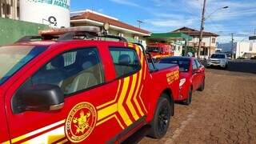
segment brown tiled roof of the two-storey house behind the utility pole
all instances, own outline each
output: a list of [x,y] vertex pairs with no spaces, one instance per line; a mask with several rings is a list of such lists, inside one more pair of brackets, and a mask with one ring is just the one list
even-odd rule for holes
[[[200,31],[199,30],[191,29],[189,27],[182,27],[182,28],[180,28],[178,30],[174,30],[172,32],[184,33],[184,34],[188,34],[188,35],[190,35],[192,37],[200,36]],[[218,37],[218,34],[206,32],[206,31],[203,31],[202,35],[203,36],[215,36],[215,37]]]

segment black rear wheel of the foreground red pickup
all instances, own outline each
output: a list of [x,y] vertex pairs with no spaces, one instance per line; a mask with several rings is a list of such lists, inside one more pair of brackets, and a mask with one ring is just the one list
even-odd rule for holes
[[150,138],[162,138],[169,127],[171,115],[170,99],[167,94],[162,94],[158,100],[157,110],[154,114],[154,119],[151,122],[150,132],[148,136]]

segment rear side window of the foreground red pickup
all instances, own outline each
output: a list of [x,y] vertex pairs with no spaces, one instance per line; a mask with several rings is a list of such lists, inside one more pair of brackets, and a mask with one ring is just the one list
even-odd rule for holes
[[117,78],[134,74],[141,69],[135,50],[110,47],[110,53],[114,62]]

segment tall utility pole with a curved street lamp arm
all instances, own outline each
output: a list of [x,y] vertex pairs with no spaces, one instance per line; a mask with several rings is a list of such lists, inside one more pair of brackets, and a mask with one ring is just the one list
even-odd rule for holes
[[[212,14],[214,14],[216,11],[218,10],[222,10],[222,9],[227,9],[229,6],[224,6],[221,7],[217,10],[214,10],[214,12],[212,12],[207,18],[210,18],[210,16]],[[202,20],[201,20],[201,29],[200,29],[200,37],[199,37],[199,43],[198,43],[198,58],[200,58],[200,51],[201,51],[201,43],[202,43],[202,34],[203,34],[203,29],[204,29],[204,25],[205,25],[205,13],[206,13],[206,0],[203,1],[203,8],[202,8]]]

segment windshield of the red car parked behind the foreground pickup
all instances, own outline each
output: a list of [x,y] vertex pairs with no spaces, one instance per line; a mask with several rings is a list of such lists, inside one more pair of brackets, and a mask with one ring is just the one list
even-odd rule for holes
[[159,63],[176,64],[179,66],[180,72],[188,72],[190,70],[190,60],[189,59],[164,58],[164,59],[160,60]]

